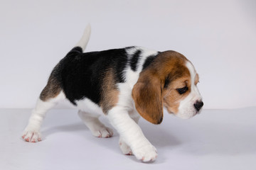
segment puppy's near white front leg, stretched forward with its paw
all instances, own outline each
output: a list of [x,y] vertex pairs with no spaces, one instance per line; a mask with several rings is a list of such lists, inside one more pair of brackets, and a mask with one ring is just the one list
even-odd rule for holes
[[131,147],[135,157],[143,162],[154,161],[157,157],[156,148],[144,136],[139,125],[122,107],[116,106],[107,113],[110,123],[119,132],[120,138]]

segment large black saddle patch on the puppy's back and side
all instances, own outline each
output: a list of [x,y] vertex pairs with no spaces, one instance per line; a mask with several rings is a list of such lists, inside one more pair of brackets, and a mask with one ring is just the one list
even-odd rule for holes
[[82,53],[80,47],[75,47],[60,60],[55,67],[61,88],[68,100],[76,105],[76,100],[89,98],[99,104],[102,99],[102,81],[105,72],[112,68],[115,83],[125,81],[123,71],[127,67],[125,48],[105,50],[101,52]]

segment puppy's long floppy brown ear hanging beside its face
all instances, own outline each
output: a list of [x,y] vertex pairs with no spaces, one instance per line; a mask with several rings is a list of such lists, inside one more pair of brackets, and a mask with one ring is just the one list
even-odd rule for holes
[[163,98],[161,79],[155,74],[142,72],[132,89],[132,98],[140,115],[150,123],[163,120]]

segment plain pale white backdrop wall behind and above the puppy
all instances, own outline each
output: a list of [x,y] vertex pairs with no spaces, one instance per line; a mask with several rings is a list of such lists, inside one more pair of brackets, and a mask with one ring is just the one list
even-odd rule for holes
[[87,51],[176,50],[200,74],[204,108],[256,106],[256,1],[0,1],[0,108],[31,108],[92,26]]

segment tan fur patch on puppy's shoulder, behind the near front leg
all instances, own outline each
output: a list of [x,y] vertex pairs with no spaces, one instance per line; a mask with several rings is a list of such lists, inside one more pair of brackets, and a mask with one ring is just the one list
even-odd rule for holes
[[109,69],[105,73],[102,84],[102,98],[100,101],[100,107],[102,107],[103,113],[107,114],[107,112],[117,104],[118,95],[119,91],[114,84],[114,73],[112,69]]

